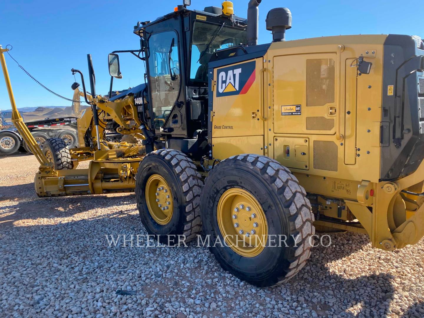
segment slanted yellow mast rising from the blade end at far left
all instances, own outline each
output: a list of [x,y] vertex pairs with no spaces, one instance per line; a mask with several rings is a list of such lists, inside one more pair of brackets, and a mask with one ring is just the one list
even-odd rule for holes
[[53,163],[49,162],[40,149],[39,145],[35,141],[33,135],[31,135],[31,132],[29,131],[28,127],[25,126],[25,123],[23,122],[22,116],[19,113],[18,109],[16,108],[15,98],[13,96],[12,86],[10,84],[10,78],[9,73],[7,71],[6,66],[6,59],[4,58],[4,52],[7,52],[8,49],[3,49],[3,47],[0,45],[0,62],[1,67],[3,69],[3,75],[4,80],[6,82],[7,92],[9,93],[9,99],[10,99],[10,105],[12,106],[12,123],[14,123],[15,127],[21,134],[22,138],[25,140],[25,142],[28,144],[28,147],[36,156],[38,162],[40,163],[40,168],[50,167],[53,169]]

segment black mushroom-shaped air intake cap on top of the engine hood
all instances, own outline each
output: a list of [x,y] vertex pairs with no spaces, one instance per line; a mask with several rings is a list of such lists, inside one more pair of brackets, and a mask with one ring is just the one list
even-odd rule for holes
[[272,42],[285,41],[286,30],[291,28],[291,12],[287,8],[271,9],[265,23],[266,29],[272,32]]

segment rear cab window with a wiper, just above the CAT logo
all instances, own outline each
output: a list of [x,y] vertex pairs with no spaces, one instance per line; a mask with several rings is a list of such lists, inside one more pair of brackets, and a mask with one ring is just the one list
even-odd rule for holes
[[[218,33],[218,35],[216,35]],[[215,39],[213,39],[215,36]],[[209,42],[212,43],[207,47]],[[207,82],[208,62],[216,50],[246,45],[247,32],[224,25],[195,21],[191,45],[190,79]],[[206,50],[207,49],[207,50]],[[200,58],[200,60],[199,60]]]

